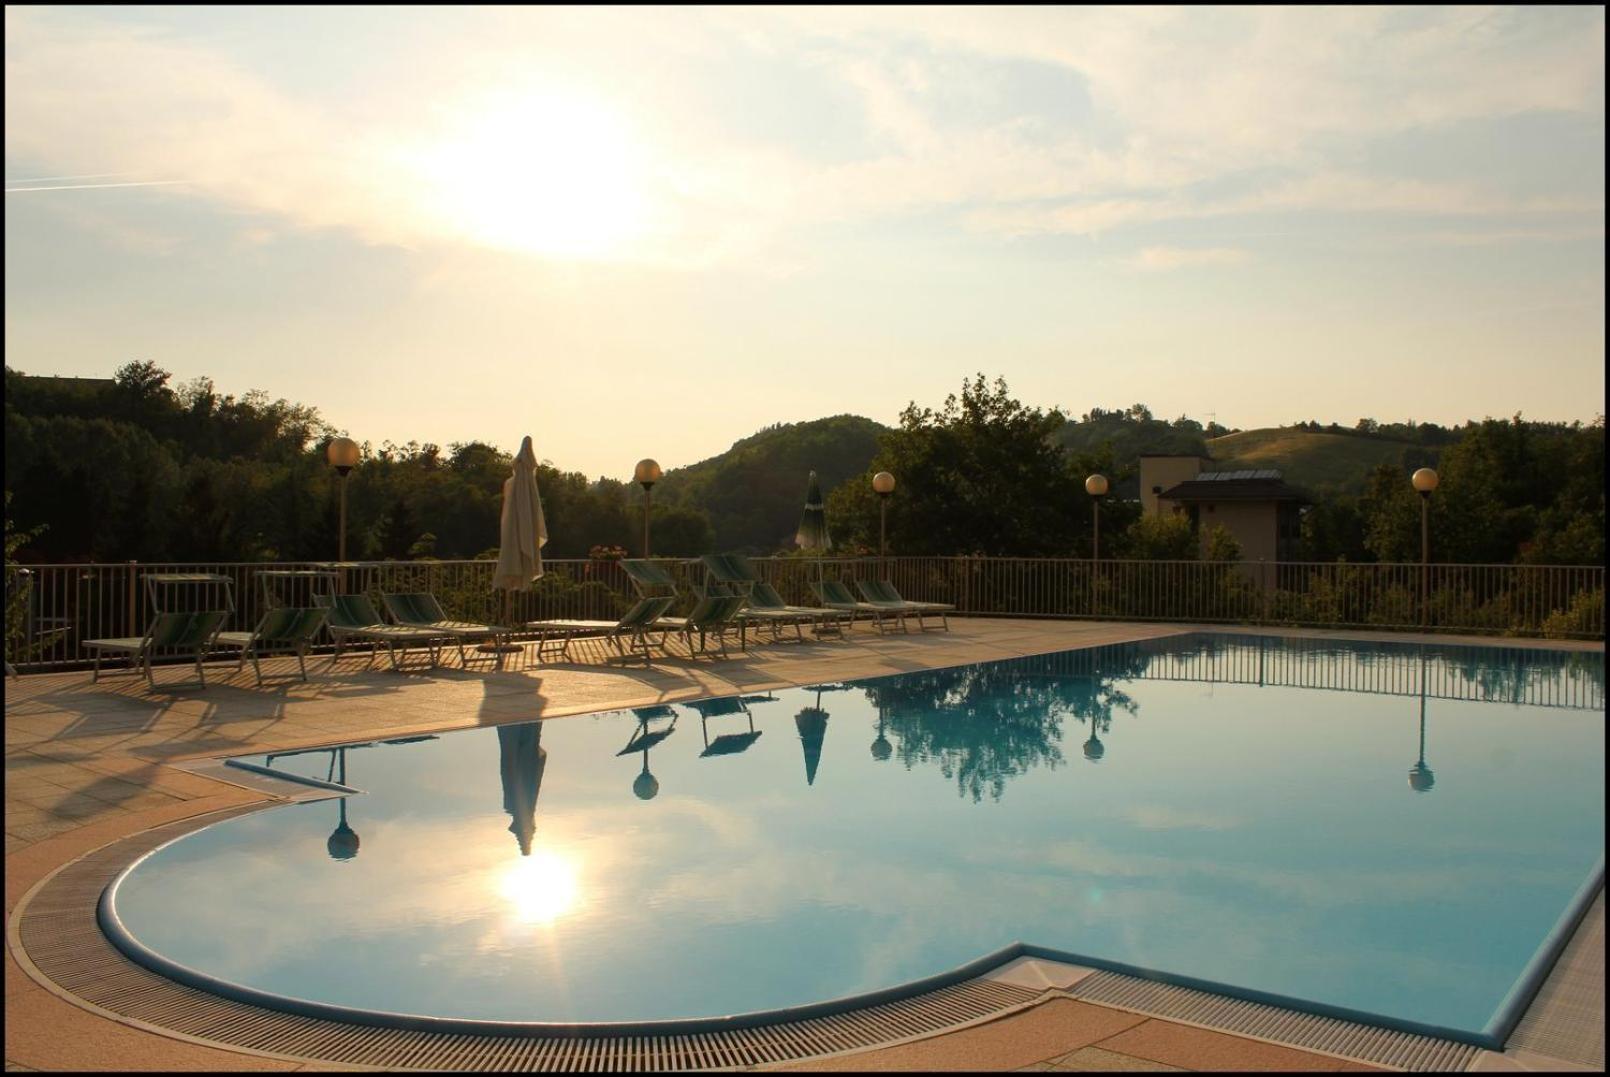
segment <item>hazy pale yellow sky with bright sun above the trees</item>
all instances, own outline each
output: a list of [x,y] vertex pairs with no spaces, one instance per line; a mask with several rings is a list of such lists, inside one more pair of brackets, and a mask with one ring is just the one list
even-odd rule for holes
[[1581,8],[5,10],[5,348],[678,467],[972,373],[1604,412]]

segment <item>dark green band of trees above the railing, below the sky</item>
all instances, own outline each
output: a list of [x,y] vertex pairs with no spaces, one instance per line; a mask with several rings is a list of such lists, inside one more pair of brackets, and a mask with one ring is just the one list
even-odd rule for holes
[[[325,446],[340,431],[319,412],[267,393],[222,394],[208,378],[171,386],[151,362],[113,378],[35,378],[6,369],[6,494],[16,555],[79,560],[327,560],[335,555],[336,483]],[[1307,427],[1306,427],[1307,428]],[[1338,427],[1312,428],[1336,431]],[[655,489],[654,552],[791,551],[805,478],[828,494],[834,552],[874,554],[887,470],[890,554],[1088,557],[1093,502],[1106,475],[1103,557],[1233,560],[1233,539],[1204,544],[1179,517],[1141,518],[1141,452],[1203,452],[1228,433],[1143,404],[1079,420],[1016,399],[1000,378],[966,378],[939,407],[914,401],[886,428],[857,415],[768,427],[731,451],[667,473]],[[1415,560],[1420,502],[1409,472],[1436,452],[1436,560],[1604,563],[1604,419],[1539,423],[1515,415],[1463,427],[1383,427],[1357,436],[1410,441],[1360,494],[1323,493],[1302,515],[1306,560]],[[1402,436],[1399,436],[1402,435]],[[509,454],[478,441],[364,444],[348,488],[348,555],[465,559],[497,541]],[[641,552],[634,483],[538,468],[547,557],[594,547]],[[10,533],[8,533],[10,534]],[[11,546],[8,539],[8,547]]]

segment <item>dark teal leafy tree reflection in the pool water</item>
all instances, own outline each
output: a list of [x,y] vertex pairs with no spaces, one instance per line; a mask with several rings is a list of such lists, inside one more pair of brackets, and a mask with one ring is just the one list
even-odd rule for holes
[[1114,681],[1145,668],[1146,652],[1129,644],[905,673],[861,689],[906,770],[937,763],[958,795],[979,802],[985,792],[1000,800],[1009,778],[1059,766],[1064,716],[1106,732],[1114,712],[1133,715]]

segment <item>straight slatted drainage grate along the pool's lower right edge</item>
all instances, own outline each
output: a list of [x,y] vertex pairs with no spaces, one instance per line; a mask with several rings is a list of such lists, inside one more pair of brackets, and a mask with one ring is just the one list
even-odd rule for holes
[[1460,1071],[1470,1066],[1481,1050],[1468,1043],[1296,1013],[1119,972],[1087,976],[1067,993],[1154,1017],[1188,1021],[1222,1032],[1240,1032],[1309,1051],[1344,1054],[1360,1063],[1407,1071]]

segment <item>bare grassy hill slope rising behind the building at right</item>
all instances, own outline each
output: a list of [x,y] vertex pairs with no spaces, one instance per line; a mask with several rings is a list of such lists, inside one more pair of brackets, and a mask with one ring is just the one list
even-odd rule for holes
[[1216,470],[1275,467],[1312,493],[1360,493],[1381,464],[1433,464],[1436,448],[1396,438],[1274,427],[1208,439]]

